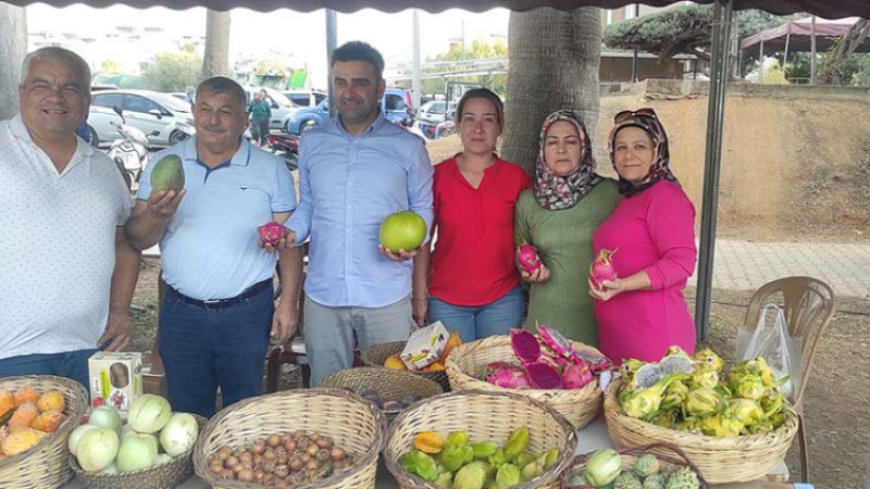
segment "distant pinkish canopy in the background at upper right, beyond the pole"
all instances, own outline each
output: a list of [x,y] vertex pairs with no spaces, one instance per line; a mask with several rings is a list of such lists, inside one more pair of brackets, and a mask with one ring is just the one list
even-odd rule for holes
[[[841,18],[837,21],[816,20],[816,49],[828,51],[837,37],[848,34],[849,28],[858,22],[858,17]],[[788,51],[803,52],[810,50],[811,26],[810,17],[792,21],[776,27],[762,30],[755,36],[749,36],[741,41],[741,49],[748,49],[760,42],[765,43],[765,50],[783,51],[786,39],[788,39]],[[870,37],[863,40],[857,52],[870,52]]]

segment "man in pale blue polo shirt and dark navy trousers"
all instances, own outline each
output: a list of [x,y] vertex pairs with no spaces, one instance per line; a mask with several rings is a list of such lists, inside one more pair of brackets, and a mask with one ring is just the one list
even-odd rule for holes
[[[173,411],[214,414],[262,390],[272,336],[296,330],[298,286],[285,287],[273,312],[275,253],[257,228],[284,223],[296,208],[293,176],[274,155],[241,137],[245,91],[225,77],[200,84],[195,137],[157,155],[182,158],[185,188],[153,191],[153,164],[139,183],[126,229],[135,247],[160,242],[166,294],[160,312],[160,356]],[[298,276],[299,250],[279,247],[282,274]]]

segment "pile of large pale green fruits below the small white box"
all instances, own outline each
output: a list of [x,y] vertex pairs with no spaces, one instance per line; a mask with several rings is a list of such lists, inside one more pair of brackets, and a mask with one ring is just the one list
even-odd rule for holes
[[127,423],[101,405],[82,419],[67,447],[85,472],[120,474],[171,462],[194,447],[199,425],[188,413],[173,413],[164,398],[145,394],[130,404]]

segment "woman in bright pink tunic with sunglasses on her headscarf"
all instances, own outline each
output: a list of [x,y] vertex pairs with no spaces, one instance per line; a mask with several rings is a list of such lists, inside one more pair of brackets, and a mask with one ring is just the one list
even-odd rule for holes
[[695,351],[683,289],[697,258],[695,208],[668,167],[668,136],[652,109],[617,114],[610,161],[622,195],[595,231],[593,250],[617,250],[617,277],[595,287],[599,349],[612,361],[660,360],[676,344]]

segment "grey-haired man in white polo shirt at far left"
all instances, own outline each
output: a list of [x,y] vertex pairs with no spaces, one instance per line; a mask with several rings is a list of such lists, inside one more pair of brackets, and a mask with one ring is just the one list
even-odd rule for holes
[[87,386],[88,356],[129,342],[133,202],[115,164],[75,136],[90,105],[85,60],[29,53],[18,98],[21,114],[0,122],[0,377]]

